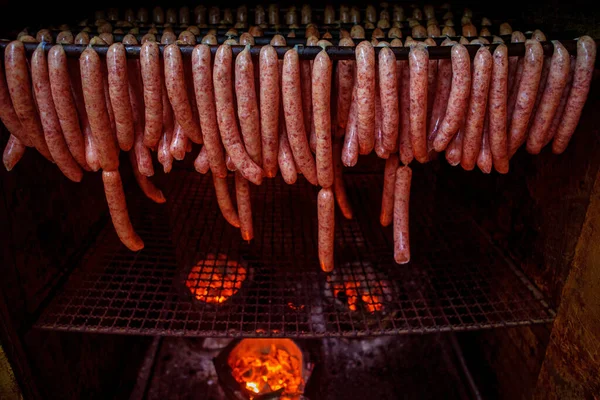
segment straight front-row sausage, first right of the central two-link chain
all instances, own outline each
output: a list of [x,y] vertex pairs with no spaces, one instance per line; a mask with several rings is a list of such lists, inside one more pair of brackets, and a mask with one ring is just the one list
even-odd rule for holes
[[369,154],[375,145],[375,50],[363,41],[356,46],[355,54],[358,150]]

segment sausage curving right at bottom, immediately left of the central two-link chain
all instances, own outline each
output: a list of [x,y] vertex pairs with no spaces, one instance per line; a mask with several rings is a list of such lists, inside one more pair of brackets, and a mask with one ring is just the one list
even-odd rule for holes
[[285,53],[281,78],[282,104],[288,141],[296,166],[313,185],[317,184],[315,160],[306,138],[302,114],[302,88],[300,83],[300,60],[294,49]]

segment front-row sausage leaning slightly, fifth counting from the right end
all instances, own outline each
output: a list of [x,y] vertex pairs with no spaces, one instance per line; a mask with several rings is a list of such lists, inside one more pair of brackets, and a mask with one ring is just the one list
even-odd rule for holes
[[481,47],[473,60],[471,97],[464,128],[461,166],[467,171],[475,168],[481,150],[491,77],[492,55],[487,47]]

